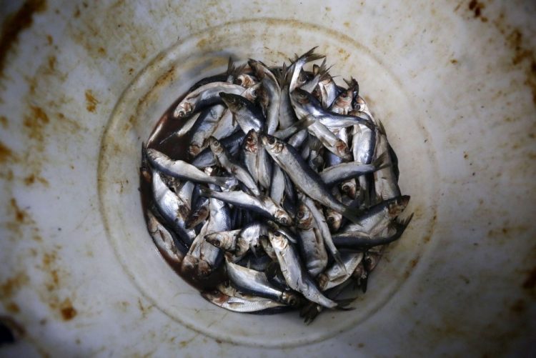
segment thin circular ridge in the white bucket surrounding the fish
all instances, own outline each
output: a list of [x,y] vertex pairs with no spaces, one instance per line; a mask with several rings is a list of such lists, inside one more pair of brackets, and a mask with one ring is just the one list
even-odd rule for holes
[[[278,27],[291,27],[295,26],[296,24],[301,28],[307,28],[309,31],[317,31],[321,32],[323,34],[327,34],[329,37],[337,38],[339,42],[345,42],[349,46],[353,46],[355,49],[358,49],[359,51],[366,51],[367,55],[370,56],[374,61],[377,61],[377,64],[381,65],[385,71],[389,74],[389,77],[393,79],[397,84],[402,86],[400,84],[399,79],[397,79],[396,76],[392,73],[392,71],[389,71],[387,69],[387,66],[384,66],[382,61],[379,61],[376,56],[372,54],[372,51],[370,51],[367,48],[364,48],[362,45],[357,44],[353,39],[349,38],[348,36],[338,32],[334,31],[332,29],[327,29],[322,26],[318,26],[315,24],[307,24],[301,21],[283,21],[279,19],[271,19],[271,18],[264,18],[264,19],[244,19],[241,21],[232,21],[226,24],[222,24],[219,26],[214,26],[210,29],[206,29],[204,31],[200,31],[197,34],[193,34],[187,38],[180,39],[176,44],[174,44],[170,49],[167,51],[162,52],[161,54],[157,55],[156,58],[149,63],[149,65],[144,68],[129,84],[129,86],[125,89],[123,94],[121,94],[121,97],[118,99],[116,106],[114,107],[114,110],[111,113],[111,116],[109,117],[109,121],[106,124],[106,128],[104,129],[104,133],[101,136],[101,151],[99,153],[99,165],[98,165],[98,173],[99,173],[99,180],[98,180],[98,190],[99,190],[99,206],[101,211],[101,217],[104,222],[104,227],[106,228],[106,236],[109,239],[109,242],[111,243],[111,246],[114,247],[114,251],[119,258],[119,262],[121,264],[121,267],[123,267],[126,274],[130,277],[131,281],[134,282],[137,289],[139,289],[139,292],[141,292],[144,297],[149,299],[150,302],[152,302],[156,307],[158,307],[162,312],[167,314],[167,316],[171,317],[172,319],[176,320],[177,322],[183,324],[185,327],[192,329],[196,332],[206,334],[209,337],[212,337],[214,339],[219,339],[222,341],[230,342],[233,344],[240,344],[244,346],[250,346],[250,347],[297,347],[303,344],[312,343],[312,342],[321,342],[325,339],[329,339],[331,337],[334,337],[338,332],[342,330],[349,329],[350,327],[354,327],[357,324],[360,324],[364,322],[366,319],[372,316],[375,312],[377,312],[379,309],[384,307],[387,302],[389,302],[392,297],[394,297],[394,294],[396,294],[399,287],[402,286],[402,284],[407,280],[407,278],[410,276],[410,274],[405,275],[402,279],[399,279],[397,284],[390,290],[389,294],[382,297],[382,301],[378,304],[375,304],[374,309],[370,309],[366,315],[359,317],[358,319],[351,320],[350,322],[347,322],[347,324],[344,324],[342,326],[338,326],[337,329],[333,329],[331,332],[326,332],[325,334],[319,334],[316,337],[312,338],[295,338],[292,337],[291,340],[289,339],[282,339],[280,342],[257,342],[257,341],[244,341],[243,339],[237,339],[235,337],[221,334],[218,332],[214,332],[211,329],[204,329],[207,327],[197,327],[195,324],[192,324],[191,322],[188,322],[186,319],[182,319],[182,317],[177,317],[177,314],[172,312],[168,307],[162,306],[160,304],[159,300],[155,297],[153,297],[152,292],[144,287],[144,283],[140,281],[140,279],[137,277],[137,272],[132,269],[131,264],[129,262],[128,257],[125,257],[124,254],[121,252],[120,249],[120,243],[117,240],[120,240],[119,238],[115,237],[113,234],[113,230],[111,229],[110,222],[108,220],[108,217],[110,216],[110,210],[113,210],[114,208],[109,207],[106,204],[106,181],[100,180],[101,176],[100,174],[103,173],[107,168],[106,165],[108,164],[107,158],[109,146],[106,143],[106,138],[108,138],[111,134],[113,134],[114,129],[116,129],[117,123],[116,121],[121,118],[121,114],[126,111],[126,109],[123,108],[125,103],[129,103],[129,97],[134,96],[134,99],[137,99],[137,94],[139,91],[144,91],[144,88],[151,89],[151,84],[154,84],[155,79],[157,79],[154,76],[154,69],[166,69],[170,66],[170,64],[173,64],[176,60],[173,57],[167,56],[166,54],[173,53],[173,50],[179,49],[182,45],[186,44],[189,41],[196,41],[197,39],[202,40],[206,39],[210,36],[210,34],[219,33],[224,29],[233,29],[234,27],[243,26],[245,23],[248,24],[258,24],[258,23],[264,23],[269,26],[278,26]],[[292,23],[292,24],[290,24]],[[411,99],[407,99],[411,102]],[[413,106],[413,108],[417,108],[416,106]],[[417,120],[418,122],[418,120]],[[422,123],[418,122],[419,129],[422,131],[422,136],[424,137],[430,137],[427,135],[425,131],[425,126],[422,125]],[[435,161],[435,158],[429,158],[432,166],[435,166],[435,168],[432,169],[432,171],[435,171],[437,173],[437,161]],[[437,192],[437,189],[435,188],[435,185],[432,183],[431,192],[435,194],[435,198],[431,199],[430,202],[437,203],[437,199],[439,198],[439,192]],[[429,225],[428,232],[423,233],[423,236],[426,237],[432,237],[433,231],[434,231],[434,224],[435,224],[435,218],[436,218],[436,207],[433,206],[430,210],[430,213],[427,213],[427,222]],[[434,219],[432,219],[432,217]],[[426,218],[425,218],[426,219]],[[422,253],[422,255],[425,254],[424,247],[421,247],[420,250],[416,250],[416,252]],[[418,259],[420,257],[419,254],[416,254],[415,257]]]

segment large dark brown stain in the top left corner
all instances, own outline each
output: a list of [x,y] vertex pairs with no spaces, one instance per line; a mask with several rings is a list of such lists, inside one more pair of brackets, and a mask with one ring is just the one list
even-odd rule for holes
[[4,72],[7,54],[18,41],[19,34],[33,24],[34,14],[44,10],[46,10],[46,1],[26,0],[19,11],[8,16],[4,21],[0,35],[0,76]]

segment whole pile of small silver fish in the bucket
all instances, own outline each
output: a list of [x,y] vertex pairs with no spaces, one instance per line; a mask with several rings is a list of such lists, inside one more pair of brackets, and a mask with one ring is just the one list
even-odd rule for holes
[[[359,84],[337,85],[325,59],[304,69],[325,57],[314,50],[289,66],[229,59],[177,99],[178,129],[157,125],[143,147],[154,243],[224,309],[300,309],[305,322],[349,309],[412,217],[399,217],[410,197]],[[163,144],[187,148],[182,160]]]

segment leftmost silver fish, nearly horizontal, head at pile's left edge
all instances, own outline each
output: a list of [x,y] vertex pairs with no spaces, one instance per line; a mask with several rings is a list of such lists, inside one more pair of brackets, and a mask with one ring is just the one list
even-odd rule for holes
[[234,187],[237,184],[237,179],[233,177],[209,176],[192,164],[182,160],[172,160],[156,149],[147,149],[147,158],[155,168],[170,176],[226,188]]

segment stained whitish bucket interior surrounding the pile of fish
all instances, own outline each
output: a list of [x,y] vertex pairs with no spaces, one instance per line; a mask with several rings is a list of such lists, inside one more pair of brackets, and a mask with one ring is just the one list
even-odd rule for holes
[[[26,1],[0,43],[0,354],[536,354],[532,1]],[[232,314],[144,228],[142,141],[227,57],[359,80],[415,212],[352,312]],[[532,340],[531,340],[532,339]]]

